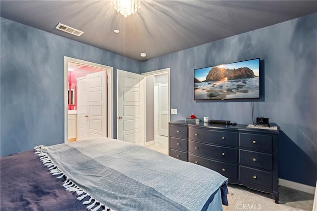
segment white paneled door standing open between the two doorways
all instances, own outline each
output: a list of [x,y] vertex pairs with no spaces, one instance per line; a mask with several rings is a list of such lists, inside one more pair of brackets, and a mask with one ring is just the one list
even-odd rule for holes
[[143,76],[117,70],[117,139],[144,146]]

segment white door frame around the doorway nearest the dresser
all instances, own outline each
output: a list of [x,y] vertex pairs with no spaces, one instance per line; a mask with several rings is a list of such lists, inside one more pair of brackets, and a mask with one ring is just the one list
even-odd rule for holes
[[[154,71],[150,71],[150,72],[146,72],[146,73],[141,73],[141,75],[144,76],[144,78],[146,78],[147,76],[151,76],[151,75],[162,75],[162,74],[167,74],[167,92],[168,92],[168,96],[167,96],[167,122],[170,122],[170,68],[164,68],[164,69],[160,69],[160,70],[154,70]],[[146,89],[146,81],[144,80],[144,102],[146,102],[146,96],[147,96],[147,89]],[[147,105],[146,103],[144,103],[144,117],[146,117],[146,113],[147,113]],[[147,120],[146,118],[144,118],[144,137],[147,137]],[[168,134],[169,136],[169,134]],[[144,144],[146,146],[147,142],[146,140],[144,141]]]

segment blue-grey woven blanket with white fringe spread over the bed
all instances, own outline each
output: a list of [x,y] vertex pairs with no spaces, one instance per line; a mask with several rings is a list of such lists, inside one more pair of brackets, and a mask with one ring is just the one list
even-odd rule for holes
[[136,144],[99,138],[35,150],[88,210],[207,210],[220,187],[227,205],[227,178]]

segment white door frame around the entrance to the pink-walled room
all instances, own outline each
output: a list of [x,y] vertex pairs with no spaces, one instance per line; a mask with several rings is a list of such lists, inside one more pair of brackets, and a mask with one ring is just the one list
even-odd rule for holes
[[102,68],[108,71],[107,133],[113,138],[113,67],[64,56],[64,143],[68,143],[68,62]]

